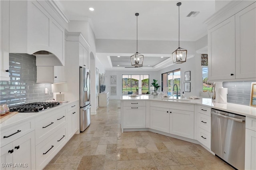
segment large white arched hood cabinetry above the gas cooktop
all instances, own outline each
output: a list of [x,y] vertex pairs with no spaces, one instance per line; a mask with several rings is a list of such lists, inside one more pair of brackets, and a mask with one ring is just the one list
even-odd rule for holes
[[61,65],[64,28],[37,1],[10,1],[10,53],[49,51]]

